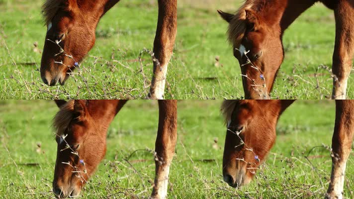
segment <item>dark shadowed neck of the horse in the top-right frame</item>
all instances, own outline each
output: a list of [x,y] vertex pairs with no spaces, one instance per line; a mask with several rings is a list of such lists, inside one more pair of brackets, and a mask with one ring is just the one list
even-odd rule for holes
[[291,23],[318,0],[285,0],[281,7],[281,35]]

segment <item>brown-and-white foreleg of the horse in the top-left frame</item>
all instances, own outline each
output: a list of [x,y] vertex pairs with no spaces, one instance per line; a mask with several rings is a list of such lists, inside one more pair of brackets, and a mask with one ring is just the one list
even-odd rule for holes
[[177,33],[177,0],[159,0],[159,18],[154,41],[154,72],[150,99],[163,99],[167,65],[171,59]]

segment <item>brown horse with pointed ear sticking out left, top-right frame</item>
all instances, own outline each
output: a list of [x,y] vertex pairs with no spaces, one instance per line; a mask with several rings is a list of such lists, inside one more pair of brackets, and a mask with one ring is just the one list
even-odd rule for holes
[[283,33],[318,1],[333,9],[336,17],[332,99],[346,99],[354,49],[354,0],[246,0],[235,14],[218,10],[229,23],[228,38],[241,66],[246,99],[270,99],[284,57]]

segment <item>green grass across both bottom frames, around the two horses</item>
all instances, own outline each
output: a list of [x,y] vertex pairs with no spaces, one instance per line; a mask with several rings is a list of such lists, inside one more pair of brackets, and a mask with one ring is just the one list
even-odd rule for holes
[[[177,153],[171,166],[169,198],[323,197],[331,168],[328,149],[334,126],[333,101],[297,101],[290,106],[280,118],[276,143],[261,172],[252,184],[239,190],[222,181],[226,128],[220,103],[178,101]],[[57,110],[53,101],[0,101],[0,199],[52,196],[56,142],[50,125]],[[107,154],[83,198],[149,196],[151,189],[141,192],[142,184],[151,187],[154,178],[151,150],[157,121],[156,101],[126,104],[109,128]],[[135,150],[139,151],[133,153]],[[129,161],[138,173],[124,161],[132,153]],[[353,165],[352,153],[346,172],[347,198],[354,196]]]

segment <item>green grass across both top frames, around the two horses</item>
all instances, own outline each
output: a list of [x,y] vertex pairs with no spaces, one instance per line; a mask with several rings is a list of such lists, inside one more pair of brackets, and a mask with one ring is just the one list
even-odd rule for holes
[[[0,0],[1,99],[145,98],[141,65],[149,85],[157,0],[122,0],[98,24],[96,45],[83,77],[64,87],[42,84],[38,68],[46,27],[41,0]],[[242,98],[240,67],[226,41],[227,24],[216,9],[234,12],[241,0],[178,0],[178,32],[169,65],[166,99]],[[284,35],[285,61],[272,96],[326,99],[331,96],[335,24],[322,4],[307,10]],[[139,62],[140,54],[142,62]],[[216,58],[218,61],[216,61]],[[348,98],[354,99],[353,80]],[[80,88],[80,89],[79,89]],[[352,91],[352,92],[351,92]]]

